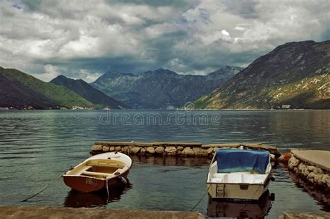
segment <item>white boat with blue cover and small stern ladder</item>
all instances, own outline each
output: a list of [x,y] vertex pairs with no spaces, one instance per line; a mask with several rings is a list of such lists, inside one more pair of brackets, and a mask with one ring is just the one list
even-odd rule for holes
[[268,190],[271,170],[267,151],[218,149],[207,175],[207,192],[212,199],[259,200]]

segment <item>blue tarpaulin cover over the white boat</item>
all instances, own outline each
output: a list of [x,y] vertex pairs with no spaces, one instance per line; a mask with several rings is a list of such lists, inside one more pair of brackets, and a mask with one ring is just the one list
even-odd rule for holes
[[269,152],[253,149],[218,149],[218,172],[246,172],[256,170],[265,174],[269,163]]

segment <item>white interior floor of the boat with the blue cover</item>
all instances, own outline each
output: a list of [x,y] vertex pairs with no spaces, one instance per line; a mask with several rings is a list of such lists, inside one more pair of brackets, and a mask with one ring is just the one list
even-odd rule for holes
[[230,184],[263,184],[267,175],[253,174],[251,172],[214,173],[213,183]]

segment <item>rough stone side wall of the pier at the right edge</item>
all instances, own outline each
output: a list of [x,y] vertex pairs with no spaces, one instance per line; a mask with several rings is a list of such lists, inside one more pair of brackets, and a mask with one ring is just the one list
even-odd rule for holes
[[[323,165],[318,165],[317,160],[310,162],[299,156],[299,153],[292,152],[288,168],[297,173],[300,177],[306,179],[311,184],[320,186],[330,190],[330,172],[329,169]],[[312,152],[311,152],[312,153]],[[329,161],[329,160],[328,160]]]

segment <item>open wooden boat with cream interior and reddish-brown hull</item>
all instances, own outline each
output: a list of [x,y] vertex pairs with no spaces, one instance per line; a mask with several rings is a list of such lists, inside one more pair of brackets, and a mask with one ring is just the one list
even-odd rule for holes
[[109,152],[97,154],[79,163],[62,176],[64,183],[83,193],[109,188],[125,178],[132,167],[126,154]]

